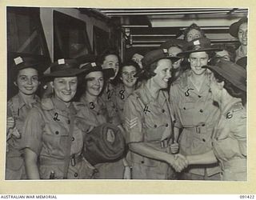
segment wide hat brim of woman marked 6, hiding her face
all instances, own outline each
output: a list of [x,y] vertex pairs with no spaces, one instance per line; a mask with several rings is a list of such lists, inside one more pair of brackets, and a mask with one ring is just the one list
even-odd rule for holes
[[238,66],[235,63],[232,63],[232,66],[230,66],[226,61],[221,62],[223,62],[223,68],[219,66],[205,67],[219,74],[220,76],[231,82],[234,86],[238,87],[240,90],[246,92],[246,70],[244,70],[242,66]]

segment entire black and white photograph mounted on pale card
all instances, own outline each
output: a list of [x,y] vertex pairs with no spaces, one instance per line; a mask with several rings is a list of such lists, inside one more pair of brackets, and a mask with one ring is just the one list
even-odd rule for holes
[[5,10],[5,182],[249,181],[249,6]]

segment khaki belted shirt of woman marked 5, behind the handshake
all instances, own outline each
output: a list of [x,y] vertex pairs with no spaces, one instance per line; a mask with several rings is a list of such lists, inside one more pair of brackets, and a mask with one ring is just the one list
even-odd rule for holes
[[[191,70],[186,70],[170,87],[170,101],[175,117],[174,126],[183,128],[179,144],[180,153],[185,155],[203,154],[212,149],[211,136],[220,116],[218,106],[214,106],[209,92],[208,76],[202,82],[201,90],[198,91],[190,82],[191,73]],[[208,75],[209,72],[206,71],[206,73]],[[208,175],[220,171],[220,168],[211,166],[207,168],[209,168]],[[190,173],[204,175],[205,166],[194,168]]]

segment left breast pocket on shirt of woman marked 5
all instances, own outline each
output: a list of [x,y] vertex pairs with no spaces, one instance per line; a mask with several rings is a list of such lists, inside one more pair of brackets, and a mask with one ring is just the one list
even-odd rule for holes
[[178,105],[181,114],[181,120],[183,125],[190,125],[193,122],[193,118],[196,118],[194,110],[194,102],[182,102]]

